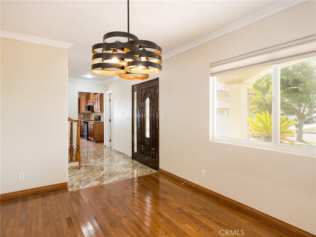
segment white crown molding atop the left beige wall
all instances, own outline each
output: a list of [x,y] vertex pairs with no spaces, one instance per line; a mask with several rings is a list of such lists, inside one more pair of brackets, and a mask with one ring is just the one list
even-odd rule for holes
[[48,40],[45,38],[28,36],[24,34],[19,34],[19,33],[10,32],[10,31],[2,31],[2,30],[0,31],[0,36],[2,38],[7,38],[11,40],[21,40],[21,41],[39,43],[43,45],[48,45],[48,46],[53,46],[53,47],[58,47],[58,48],[66,48],[66,49],[71,49],[71,47],[74,45],[72,43],[66,43],[66,42],[57,41],[57,40]]

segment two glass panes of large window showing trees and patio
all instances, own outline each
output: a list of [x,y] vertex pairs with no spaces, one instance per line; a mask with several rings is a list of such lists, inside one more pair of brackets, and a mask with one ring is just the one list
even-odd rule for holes
[[[316,57],[280,63],[279,75],[272,67],[216,77],[215,137],[271,143],[277,133],[277,144],[316,148]],[[279,81],[280,105],[272,99],[273,80]],[[273,130],[275,116],[279,128]]]

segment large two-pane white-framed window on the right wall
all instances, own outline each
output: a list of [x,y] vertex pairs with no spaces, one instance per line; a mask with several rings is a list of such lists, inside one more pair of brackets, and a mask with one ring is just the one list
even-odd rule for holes
[[[309,50],[315,51],[313,44]],[[213,140],[315,154],[315,52],[293,56],[279,48],[286,57],[274,60],[266,50],[211,65]],[[279,55],[275,49],[273,54]]]

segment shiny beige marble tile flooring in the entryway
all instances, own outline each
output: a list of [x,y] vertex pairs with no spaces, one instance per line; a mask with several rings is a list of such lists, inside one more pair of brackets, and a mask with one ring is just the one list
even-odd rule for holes
[[68,168],[68,190],[74,191],[123,179],[154,174],[154,170],[131,158],[81,139],[81,168]]

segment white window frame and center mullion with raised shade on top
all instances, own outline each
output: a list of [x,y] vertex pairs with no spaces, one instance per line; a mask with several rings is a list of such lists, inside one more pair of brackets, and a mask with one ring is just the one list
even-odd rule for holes
[[[279,51],[280,53],[278,54],[276,53],[276,51]],[[273,54],[271,54],[271,52],[273,52]],[[294,53],[295,55],[293,55]],[[281,57],[279,55],[281,55]],[[213,141],[247,145],[252,147],[262,147],[274,150],[283,150],[295,153],[316,155],[316,149],[314,148],[279,144],[280,121],[278,116],[272,117],[273,135],[271,143],[256,140],[216,136],[217,75],[223,75],[231,72],[243,71],[246,69],[272,65],[272,114],[277,115],[280,114],[280,93],[278,93],[280,91],[280,69],[278,66],[279,63],[301,58],[307,58],[311,56],[316,56],[316,36],[308,37],[303,40],[295,40],[286,44],[277,45],[269,49],[260,50],[233,59],[211,64],[210,91],[212,91],[213,96],[210,96],[210,105],[212,106],[212,108],[210,108],[210,111],[213,115],[210,116],[210,118],[212,118],[212,121],[210,121],[210,139]],[[253,58],[256,59],[255,64],[252,63]],[[265,61],[267,58],[269,58],[269,61]],[[238,65],[238,68],[236,68],[236,65]]]

